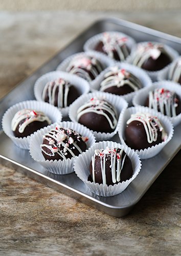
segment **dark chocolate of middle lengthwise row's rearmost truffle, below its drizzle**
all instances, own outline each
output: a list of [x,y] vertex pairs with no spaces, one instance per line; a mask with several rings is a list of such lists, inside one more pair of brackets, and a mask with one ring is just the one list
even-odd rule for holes
[[165,68],[171,61],[171,57],[167,53],[162,52],[157,59],[149,57],[141,68],[147,71],[157,71]]

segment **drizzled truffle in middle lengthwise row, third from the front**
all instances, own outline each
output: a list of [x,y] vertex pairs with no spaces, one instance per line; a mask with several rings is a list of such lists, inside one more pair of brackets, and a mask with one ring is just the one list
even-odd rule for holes
[[138,91],[142,88],[141,81],[129,71],[111,67],[105,73],[104,80],[100,84],[100,91],[116,95],[125,95],[127,93]]

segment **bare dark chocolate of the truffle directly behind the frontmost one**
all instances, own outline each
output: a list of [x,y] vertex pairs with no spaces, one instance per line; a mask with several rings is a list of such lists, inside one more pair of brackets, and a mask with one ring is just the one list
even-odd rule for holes
[[126,144],[133,150],[144,150],[144,148],[161,143],[163,141],[162,132],[157,130],[157,135],[157,140],[149,143],[144,125],[140,121],[132,121],[125,128]]

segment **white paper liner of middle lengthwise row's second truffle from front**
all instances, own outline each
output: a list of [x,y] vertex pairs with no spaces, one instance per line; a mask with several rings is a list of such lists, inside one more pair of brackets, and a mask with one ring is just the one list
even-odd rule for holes
[[[86,103],[91,98],[102,98],[107,101],[109,101],[117,110],[119,119],[121,118],[121,115],[124,113],[124,111],[127,108],[128,103],[121,97],[110,93],[104,93],[104,92],[94,92],[94,93],[88,93],[86,95],[80,96],[77,100],[74,101],[74,103],[71,105],[69,110],[69,117],[73,122],[77,122],[77,110],[80,106],[82,106],[84,103]],[[118,119],[118,120],[119,120]],[[100,140],[107,140],[112,138],[115,134],[117,134],[117,127],[114,132],[112,133],[101,133],[101,132],[95,132],[92,131],[94,136],[96,137],[97,141]]]

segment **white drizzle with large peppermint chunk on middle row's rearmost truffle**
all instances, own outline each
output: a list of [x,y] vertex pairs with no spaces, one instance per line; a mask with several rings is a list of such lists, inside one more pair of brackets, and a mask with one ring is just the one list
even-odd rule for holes
[[140,44],[133,55],[132,63],[141,68],[146,60],[149,58],[157,59],[161,53],[167,53],[162,44],[152,44],[152,42],[148,42],[148,44]]

